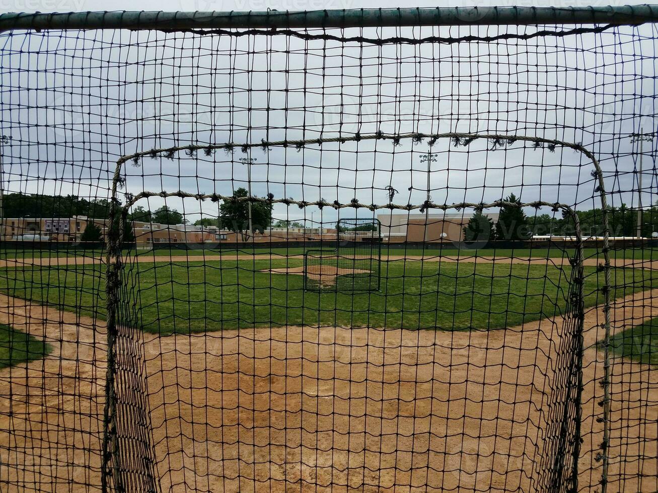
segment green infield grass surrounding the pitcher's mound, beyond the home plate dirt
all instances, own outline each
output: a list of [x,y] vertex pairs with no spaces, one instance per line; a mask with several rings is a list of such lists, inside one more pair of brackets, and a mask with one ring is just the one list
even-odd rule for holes
[[[290,260],[128,264],[122,323],[147,331],[214,331],[270,325],[443,330],[499,329],[562,314],[568,277],[545,265],[395,261],[382,264],[374,293],[309,293],[301,275],[261,270],[301,266]],[[7,268],[0,291],[103,317],[103,266]],[[600,303],[602,273],[586,267],[586,306]],[[613,296],[658,287],[653,271],[615,269]],[[653,277],[652,277],[653,275]]]

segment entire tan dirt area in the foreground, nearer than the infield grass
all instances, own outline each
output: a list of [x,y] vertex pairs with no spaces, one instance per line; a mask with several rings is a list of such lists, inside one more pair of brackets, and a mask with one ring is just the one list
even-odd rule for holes
[[[613,331],[651,316],[658,289],[618,300]],[[594,328],[601,319],[600,307],[588,310],[584,334],[582,450],[594,454],[602,438]],[[45,360],[0,370],[0,481],[12,485],[3,492],[95,490],[104,325],[8,296],[0,296],[0,321],[54,348]],[[534,490],[547,394],[559,388],[552,367],[560,332],[544,319],[488,332],[144,335],[161,486]],[[658,371],[617,359],[612,372],[609,491],[658,490]],[[580,470],[579,490],[594,491],[600,465],[592,453],[582,454]]]

